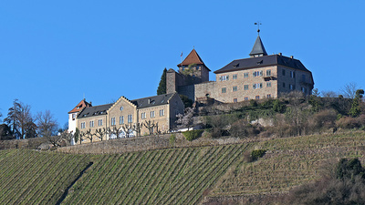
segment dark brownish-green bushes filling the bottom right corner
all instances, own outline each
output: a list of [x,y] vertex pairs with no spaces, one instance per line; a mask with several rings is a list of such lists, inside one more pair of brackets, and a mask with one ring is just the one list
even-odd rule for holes
[[[337,174],[290,190],[287,204],[365,204],[364,169],[359,159],[341,159]],[[284,202],[284,201],[282,201]]]

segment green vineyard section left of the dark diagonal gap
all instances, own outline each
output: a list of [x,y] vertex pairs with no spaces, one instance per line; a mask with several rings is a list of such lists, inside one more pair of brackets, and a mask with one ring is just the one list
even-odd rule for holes
[[88,156],[0,151],[0,204],[56,204]]

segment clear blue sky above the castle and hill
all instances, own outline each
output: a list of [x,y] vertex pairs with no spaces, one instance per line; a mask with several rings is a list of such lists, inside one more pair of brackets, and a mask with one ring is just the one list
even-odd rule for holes
[[154,96],[163,68],[176,69],[193,46],[212,71],[248,57],[256,21],[267,53],[299,59],[319,91],[349,82],[365,88],[364,7],[360,0],[2,1],[0,112],[18,98],[33,114],[49,109],[63,126],[84,96],[93,105]]

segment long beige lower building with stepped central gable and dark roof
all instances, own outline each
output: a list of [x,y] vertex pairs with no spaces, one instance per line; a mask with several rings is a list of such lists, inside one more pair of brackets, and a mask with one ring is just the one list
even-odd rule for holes
[[[84,108],[77,118],[77,128],[81,133],[96,133],[99,128],[118,128],[120,131],[119,138],[127,136],[127,126],[135,126],[138,123],[145,123],[151,120],[155,125],[158,123],[158,129],[154,128],[153,133],[157,131],[166,132],[174,127],[176,115],[183,113],[183,101],[177,93],[164,94],[154,97],[144,97],[141,99],[129,100],[126,97],[120,97],[113,104],[101,105],[96,107]],[[136,131],[129,132],[129,137],[134,137]],[[149,129],[141,126],[141,135],[150,134]],[[117,138],[115,133],[109,133],[103,139]],[[99,141],[95,135],[93,142]],[[89,138],[83,138],[82,143],[90,142]],[[79,142],[78,142],[79,143]]]

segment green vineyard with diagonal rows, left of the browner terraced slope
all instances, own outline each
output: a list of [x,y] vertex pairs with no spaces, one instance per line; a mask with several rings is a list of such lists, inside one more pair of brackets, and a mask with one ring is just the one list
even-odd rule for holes
[[118,155],[0,152],[1,204],[192,204],[242,157],[247,145]]

